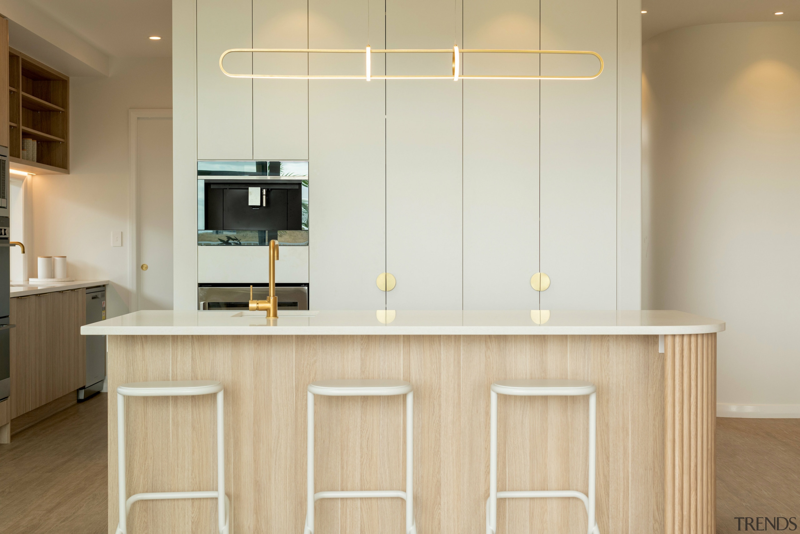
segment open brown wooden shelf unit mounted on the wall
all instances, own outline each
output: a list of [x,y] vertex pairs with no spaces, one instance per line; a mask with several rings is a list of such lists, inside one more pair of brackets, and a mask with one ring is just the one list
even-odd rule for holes
[[[70,174],[70,78],[9,48],[10,167],[37,175]],[[22,139],[36,140],[36,161],[22,159]]]

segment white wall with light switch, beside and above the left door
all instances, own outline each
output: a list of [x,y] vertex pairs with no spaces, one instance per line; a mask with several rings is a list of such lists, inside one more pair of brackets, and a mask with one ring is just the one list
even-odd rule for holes
[[[170,58],[121,58],[108,78],[71,78],[70,175],[32,177],[29,262],[66,255],[71,277],[109,279],[109,317],[130,303],[128,110],[170,108],[171,68]],[[122,247],[111,247],[112,231],[123,232]]]

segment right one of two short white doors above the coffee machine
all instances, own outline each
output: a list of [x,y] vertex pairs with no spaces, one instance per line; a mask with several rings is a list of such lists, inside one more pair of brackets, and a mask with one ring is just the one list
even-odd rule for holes
[[[254,48],[308,48],[306,0],[253,0]],[[253,54],[255,74],[308,74],[308,54]],[[308,159],[308,80],[253,80],[253,159]]]

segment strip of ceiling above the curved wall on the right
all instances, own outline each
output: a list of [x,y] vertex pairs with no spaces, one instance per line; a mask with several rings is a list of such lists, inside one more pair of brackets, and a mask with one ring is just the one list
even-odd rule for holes
[[700,24],[800,21],[798,0],[642,0],[642,10],[642,41]]

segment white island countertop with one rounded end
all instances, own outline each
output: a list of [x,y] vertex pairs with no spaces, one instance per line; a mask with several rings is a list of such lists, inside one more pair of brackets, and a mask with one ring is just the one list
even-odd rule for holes
[[[549,316],[548,316],[549,315]],[[84,335],[658,335],[725,323],[683,311],[136,311]]]

